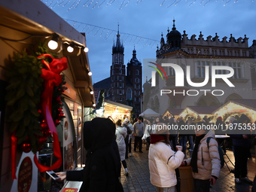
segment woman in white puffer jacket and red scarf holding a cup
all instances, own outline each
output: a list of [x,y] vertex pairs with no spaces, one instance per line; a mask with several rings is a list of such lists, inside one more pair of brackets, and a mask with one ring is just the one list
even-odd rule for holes
[[[163,123],[157,123],[162,126]],[[176,146],[177,152],[172,151],[169,142],[169,132],[164,128],[151,134],[151,145],[148,152],[148,164],[151,184],[157,187],[157,192],[175,192],[177,169],[184,158],[181,146]]]

